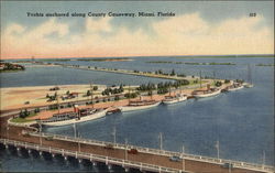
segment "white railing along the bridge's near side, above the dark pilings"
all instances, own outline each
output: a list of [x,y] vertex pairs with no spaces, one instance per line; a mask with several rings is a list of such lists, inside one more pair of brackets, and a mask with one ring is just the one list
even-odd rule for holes
[[33,143],[28,143],[28,142],[8,140],[8,139],[0,139],[0,142],[2,142],[3,144],[13,144],[14,147],[22,147],[25,149],[33,149],[33,150],[45,151],[45,152],[55,153],[55,154],[75,156],[77,159],[87,159],[90,161],[102,162],[106,164],[117,164],[117,165],[136,167],[136,169],[147,170],[147,171],[182,172],[180,170],[177,170],[177,169],[164,167],[164,166],[141,163],[141,162],[133,162],[129,160],[121,160],[117,158],[103,156],[103,155],[98,155],[98,154],[89,154],[85,152],[69,151],[69,150],[52,148],[52,147],[44,147],[44,145],[38,145],[38,144],[33,144]]

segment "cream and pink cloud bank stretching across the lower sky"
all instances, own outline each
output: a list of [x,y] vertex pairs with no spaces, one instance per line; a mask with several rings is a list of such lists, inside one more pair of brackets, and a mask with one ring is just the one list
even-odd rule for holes
[[114,30],[112,18],[88,18],[82,33],[70,32],[72,24],[57,19],[35,28],[13,23],[1,33],[1,57],[273,54],[273,28],[263,21],[257,15],[211,23],[190,13],[153,21],[153,34],[123,25]]

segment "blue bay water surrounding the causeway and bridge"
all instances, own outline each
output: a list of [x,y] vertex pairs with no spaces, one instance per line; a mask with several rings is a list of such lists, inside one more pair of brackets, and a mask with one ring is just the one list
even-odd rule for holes
[[[175,62],[231,62],[235,66],[224,65],[183,65],[183,64],[148,64],[146,61],[175,61]],[[197,75],[201,69],[204,74],[211,75],[213,69],[216,75],[221,78],[243,78],[248,76],[248,64],[252,67],[252,77],[254,87],[244,88],[238,91],[223,93],[217,97],[206,99],[191,99],[173,106],[158,106],[144,111],[114,113],[103,119],[89,121],[78,125],[81,137],[112,141],[111,132],[113,127],[117,129],[117,140],[123,143],[127,138],[129,143],[134,145],[158,148],[158,133],[164,137],[164,149],[180,151],[185,145],[187,153],[201,154],[207,156],[217,156],[215,148],[216,141],[220,142],[220,158],[232,159],[245,162],[262,163],[263,151],[265,151],[265,163],[274,163],[274,68],[257,67],[255,64],[274,63],[273,58],[172,58],[172,57],[141,57],[133,62],[66,62],[66,63],[89,63],[89,65],[102,67],[131,68],[139,71],[163,69],[170,72],[184,72],[187,75]],[[86,64],[87,65],[87,64]],[[57,83],[59,84],[87,84],[87,78],[97,80],[98,84],[111,85],[112,82],[121,80],[123,83],[151,82],[152,78],[133,80],[133,76],[114,75],[107,73],[64,69],[61,67],[32,68],[46,79],[38,79],[32,84],[43,85]],[[32,79],[26,76],[31,75],[24,72],[19,80],[18,86],[26,86]],[[56,75],[56,73],[58,73]],[[78,77],[72,79],[69,73]],[[88,75],[87,75],[88,73]],[[48,74],[55,76],[48,77]],[[10,76],[9,76],[10,75]],[[1,74],[9,76],[10,80],[16,80],[20,74]],[[84,76],[84,77],[80,77]],[[101,76],[105,76],[102,79]],[[116,79],[113,79],[116,76]],[[3,77],[4,80],[4,77]],[[35,79],[34,79],[35,80]],[[50,82],[48,82],[50,80]],[[158,80],[158,79],[157,79]],[[160,79],[161,80],[161,79]],[[97,83],[95,82],[95,83]],[[121,83],[121,82],[118,82]],[[16,86],[14,82],[1,84],[1,87]],[[117,84],[117,83],[116,83]],[[138,83],[136,83],[138,84]],[[55,84],[56,85],[56,84]],[[73,136],[73,127],[61,127],[44,129],[47,132]],[[40,169],[56,169],[64,171],[75,171],[78,166],[68,167],[63,165],[48,166],[47,162],[37,160],[31,162],[30,159],[12,156],[3,152],[3,169],[16,171],[13,167],[14,161],[24,162],[24,171],[38,171]],[[9,161],[10,159],[10,161]],[[12,160],[12,161],[11,161]],[[28,166],[28,162],[33,165]]]

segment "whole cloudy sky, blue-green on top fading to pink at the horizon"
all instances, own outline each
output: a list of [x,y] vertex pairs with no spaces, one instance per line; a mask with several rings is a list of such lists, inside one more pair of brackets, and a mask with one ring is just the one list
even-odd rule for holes
[[[273,1],[0,3],[3,60],[274,54]],[[28,12],[44,17],[28,17]],[[55,12],[69,17],[45,17]],[[72,17],[75,12],[86,17]],[[107,17],[88,17],[89,12]],[[135,17],[108,17],[109,12]],[[139,17],[139,12],[155,17]],[[175,17],[157,17],[157,12]]]

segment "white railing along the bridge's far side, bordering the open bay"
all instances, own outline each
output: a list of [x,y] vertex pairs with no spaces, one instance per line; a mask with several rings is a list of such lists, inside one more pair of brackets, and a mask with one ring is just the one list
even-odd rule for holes
[[[38,133],[34,133],[34,132],[31,134],[40,136]],[[270,165],[218,159],[218,158],[209,158],[209,156],[202,156],[202,155],[194,155],[194,154],[187,154],[187,153],[180,153],[180,152],[174,152],[174,151],[136,147],[136,145],[131,145],[131,144],[125,145],[122,143],[112,143],[112,142],[106,142],[106,141],[91,140],[91,139],[81,139],[81,138],[74,138],[69,136],[61,136],[61,134],[53,134],[53,133],[42,133],[42,137],[53,137],[54,139],[58,139],[58,140],[80,142],[85,144],[94,144],[94,145],[100,145],[100,147],[112,145],[113,148],[121,149],[121,150],[136,149],[139,152],[143,152],[143,153],[157,154],[157,155],[164,155],[164,156],[177,155],[177,156],[188,159],[188,160],[204,161],[204,162],[209,162],[209,163],[215,163],[215,164],[232,163],[235,167],[246,167],[246,169],[262,170],[262,171],[274,171],[274,167]]]

